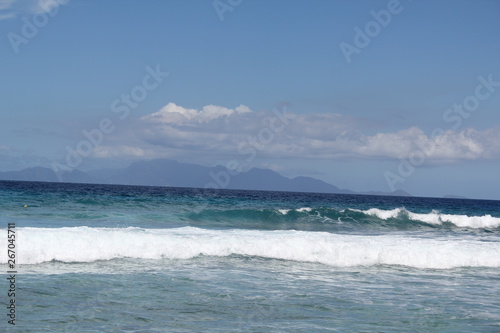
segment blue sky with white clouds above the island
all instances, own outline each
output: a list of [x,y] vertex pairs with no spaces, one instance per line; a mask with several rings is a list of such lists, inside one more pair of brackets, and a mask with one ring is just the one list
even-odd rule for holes
[[0,0],[0,171],[156,158],[500,200],[500,1]]

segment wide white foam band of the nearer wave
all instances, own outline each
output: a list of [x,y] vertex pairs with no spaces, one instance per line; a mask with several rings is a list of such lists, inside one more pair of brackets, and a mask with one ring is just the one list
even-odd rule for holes
[[[259,256],[336,267],[404,265],[418,268],[500,267],[500,242],[402,235],[306,231],[141,228],[17,228],[17,263],[93,262],[114,258],[190,259]],[[493,240],[493,241],[492,241]],[[0,238],[0,248],[7,248]],[[7,251],[0,263],[7,262]]]

